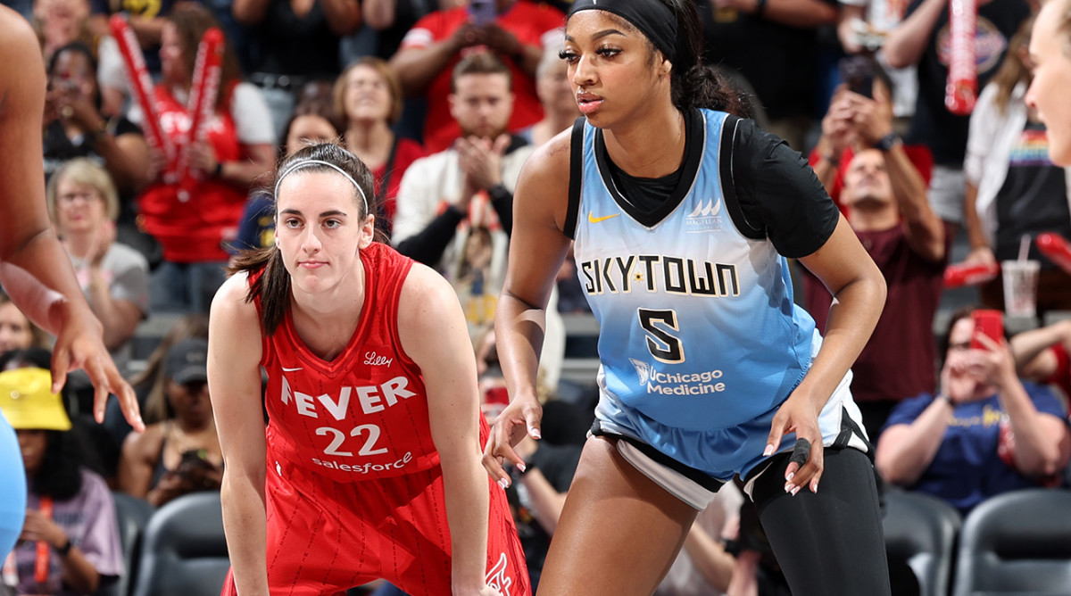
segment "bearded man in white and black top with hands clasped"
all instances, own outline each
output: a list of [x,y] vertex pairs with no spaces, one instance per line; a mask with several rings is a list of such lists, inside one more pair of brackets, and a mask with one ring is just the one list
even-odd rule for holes
[[493,324],[506,274],[513,186],[531,147],[506,132],[511,71],[494,54],[468,56],[453,78],[450,110],[463,137],[406,171],[392,238],[399,253],[454,284],[476,345]]

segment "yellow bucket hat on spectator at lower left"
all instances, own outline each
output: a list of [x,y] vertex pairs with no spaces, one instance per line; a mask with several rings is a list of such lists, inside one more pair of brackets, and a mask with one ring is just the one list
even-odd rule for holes
[[71,430],[63,399],[44,368],[0,372],[0,411],[16,430]]

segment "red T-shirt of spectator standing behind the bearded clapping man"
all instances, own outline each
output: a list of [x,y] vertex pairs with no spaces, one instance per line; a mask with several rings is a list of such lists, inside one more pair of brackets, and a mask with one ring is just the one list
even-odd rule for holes
[[[421,18],[409,29],[402,49],[422,48],[441,42],[454,34],[454,31],[469,19],[468,9],[459,6],[448,11],[436,11]],[[513,33],[517,40],[529,46],[543,47],[543,36],[565,25],[565,16],[557,9],[546,4],[534,4],[528,1],[517,1],[506,9],[506,12],[495,19],[502,29]],[[461,136],[461,128],[450,116],[450,81],[454,66],[467,52],[482,51],[482,46],[463,49],[450,63],[432,79],[424,95],[427,98],[427,114],[424,120],[424,147],[428,153],[438,153],[449,149],[454,139]],[[509,129],[519,131],[543,119],[543,107],[536,94],[536,78],[521,70],[512,58],[500,57],[513,74],[513,114],[510,117]]]

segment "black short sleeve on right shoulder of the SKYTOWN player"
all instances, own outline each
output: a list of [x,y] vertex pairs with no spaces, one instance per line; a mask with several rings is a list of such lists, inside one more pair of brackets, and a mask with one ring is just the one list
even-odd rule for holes
[[840,211],[806,158],[754,121],[737,127],[733,180],[744,218],[766,230],[782,256],[806,257],[833,234]]

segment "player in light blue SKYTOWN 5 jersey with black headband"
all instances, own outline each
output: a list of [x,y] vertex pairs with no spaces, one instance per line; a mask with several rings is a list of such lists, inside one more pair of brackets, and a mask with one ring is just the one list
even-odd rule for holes
[[[771,4],[770,10],[774,10]],[[544,308],[575,240],[601,325],[600,401],[539,593],[651,594],[739,477],[794,594],[890,593],[849,366],[885,281],[814,172],[699,61],[688,0],[576,0],[562,58],[586,116],[517,184],[496,318],[511,403],[484,464],[539,438]],[[786,257],[835,296],[828,333]],[[818,490],[819,485],[821,490]]]

